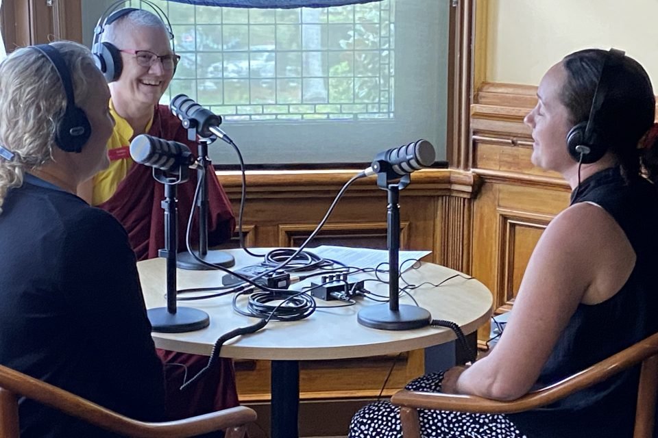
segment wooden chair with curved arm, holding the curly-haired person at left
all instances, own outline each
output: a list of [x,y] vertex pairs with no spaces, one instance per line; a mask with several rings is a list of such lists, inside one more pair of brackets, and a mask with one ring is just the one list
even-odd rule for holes
[[226,438],[243,438],[245,425],[256,420],[253,409],[241,406],[173,422],[139,422],[0,365],[0,438],[19,438],[21,396],[128,437],[182,438],[226,430]]

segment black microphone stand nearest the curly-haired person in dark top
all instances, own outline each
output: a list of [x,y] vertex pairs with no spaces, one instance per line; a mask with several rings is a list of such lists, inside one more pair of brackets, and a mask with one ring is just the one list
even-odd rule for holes
[[208,313],[191,307],[176,307],[176,248],[178,246],[178,200],[177,186],[187,181],[189,169],[180,166],[178,177],[165,175],[162,170],[153,169],[153,177],[164,184],[164,249],[158,250],[159,257],[167,259],[167,307],[148,309],[152,331],[158,333],[182,333],[205,329],[210,325]]

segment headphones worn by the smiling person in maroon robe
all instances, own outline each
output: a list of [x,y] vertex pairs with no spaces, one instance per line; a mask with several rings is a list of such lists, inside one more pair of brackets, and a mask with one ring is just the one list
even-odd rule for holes
[[[141,0],[142,3],[147,3],[151,6],[153,10],[158,14],[162,23],[167,23],[167,34],[169,34],[169,40],[173,41],[173,30],[171,29],[171,23],[169,23],[169,18],[164,14],[164,11],[160,6],[151,3],[147,0]],[[94,28],[94,41],[91,46],[91,51],[94,54],[94,59],[96,60],[96,66],[101,70],[103,76],[108,82],[113,82],[121,77],[121,70],[123,70],[123,63],[121,62],[121,51],[112,44],[111,42],[101,42],[101,34],[105,31],[105,27],[114,23],[114,21],[119,20],[122,16],[130,14],[130,12],[137,11],[137,8],[121,8],[117,9],[119,5],[123,5],[124,0],[119,0],[110,5],[109,8],[101,14],[101,17],[98,19],[98,23]]]

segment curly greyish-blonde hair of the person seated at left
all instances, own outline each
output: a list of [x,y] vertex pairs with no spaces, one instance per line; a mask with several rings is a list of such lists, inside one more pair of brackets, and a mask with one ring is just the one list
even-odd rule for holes
[[[71,73],[73,97],[79,105],[90,96],[89,72],[93,56],[82,44],[50,44],[64,58]],[[57,127],[66,110],[62,80],[40,51],[16,49],[0,64],[0,145],[14,153],[0,158],[0,213],[8,190],[23,185],[25,172],[53,159]]]

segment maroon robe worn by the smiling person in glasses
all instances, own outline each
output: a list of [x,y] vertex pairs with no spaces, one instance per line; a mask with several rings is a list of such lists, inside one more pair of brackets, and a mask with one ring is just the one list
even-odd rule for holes
[[[175,140],[186,144],[197,153],[195,142],[187,140],[187,131],[180,120],[169,112],[165,105],[158,105],[154,114],[149,135]],[[212,167],[208,167],[208,246],[214,246],[230,239],[235,228],[235,218]],[[197,183],[196,171],[190,172],[190,180],[178,187],[178,250],[184,250],[185,231]],[[138,260],[158,257],[158,249],[164,248],[164,210],[160,202],[164,200],[164,185],[153,178],[152,168],[134,164],[125,179],[119,183],[117,191],[108,201],[98,207],[109,211],[123,224],[130,244]],[[198,213],[197,213],[198,216]],[[198,244],[199,221],[195,216],[191,243]],[[158,349],[164,362],[167,378],[167,415],[177,420],[193,415],[219,411],[238,405],[233,363],[230,359],[220,359],[216,366],[197,381],[193,387],[180,391],[183,378],[192,378],[208,363],[208,357],[188,355],[180,352]],[[183,365],[183,366],[181,366]]]

